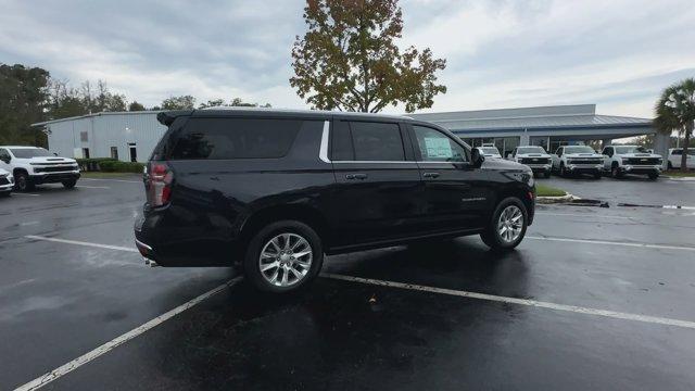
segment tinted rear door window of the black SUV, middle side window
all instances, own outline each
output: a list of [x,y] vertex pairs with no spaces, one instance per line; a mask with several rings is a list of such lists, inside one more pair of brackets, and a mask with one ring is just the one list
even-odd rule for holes
[[397,124],[350,123],[356,161],[404,161],[403,139]]

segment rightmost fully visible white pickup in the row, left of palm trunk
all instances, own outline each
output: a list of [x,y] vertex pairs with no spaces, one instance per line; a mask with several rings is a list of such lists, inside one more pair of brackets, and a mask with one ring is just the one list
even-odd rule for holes
[[604,171],[614,178],[626,174],[647,175],[654,180],[661,174],[664,159],[640,146],[608,146],[604,148]]

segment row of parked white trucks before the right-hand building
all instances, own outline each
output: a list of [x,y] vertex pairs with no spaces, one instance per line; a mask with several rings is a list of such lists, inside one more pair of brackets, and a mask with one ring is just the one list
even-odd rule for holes
[[[477,147],[488,159],[502,159],[494,146]],[[496,153],[495,153],[496,151]],[[680,168],[682,149],[670,149],[669,168]],[[686,164],[695,168],[695,151],[688,151]],[[627,174],[646,175],[656,179],[664,168],[664,157],[640,146],[607,146],[599,153],[589,146],[563,146],[548,154],[543,147],[517,147],[506,156],[507,160],[529,166],[534,174],[546,178],[552,173],[563,177],[587,174],[599,179],[604,175],[622,178]]]

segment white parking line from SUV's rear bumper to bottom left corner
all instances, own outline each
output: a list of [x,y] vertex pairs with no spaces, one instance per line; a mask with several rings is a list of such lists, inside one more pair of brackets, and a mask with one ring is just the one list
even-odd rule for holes
[[110,351],[114,350],[115,348],[117,348],[118,345],[122,345],[128,341],[130,341],[131,339],[140,336],[141,333],[156,327],[157,325],[161,325],[162,323],[173,318],[174,316],[182,313],[184,311],[199,304],[200,302],[204,301],[205,299],[208,299],[213,295],[215,295],[216,293],[219,293],[220,291],[223,291],[225,288],[227,287],[231,287],[235,283],[237,283],[239,280],[241,279],[241,277],[237,277],[233,278],[223,285],[220,285],[219,287],[210,290],[201,295],[199,295],[198,298],[190,300],[179,306],[177,306],[176,308],[168,311],[157,317],[155,317],[154,319],[138,326],[136,328],[134,328],[132,330],[124,333],[123,336],[116,337],[114,339],[112,339],[111,341],[102,344],[101,346],[87,352],[85,354],[83,354],[81,356],[71,361],[67,364],[61,365],[60,367],[27,382],[24,386],[20,386],[15,389],[15,391],[28,391],[28,390],[37,390],[46,384],[48,384],[49,382],[60,378],[61,376],[64,376],[66,374],[68,374],[72,370],[75,370],[77,368],[79,368],[80,366],[89,363],[90,361],[101,356],[102,354],[109,353]]

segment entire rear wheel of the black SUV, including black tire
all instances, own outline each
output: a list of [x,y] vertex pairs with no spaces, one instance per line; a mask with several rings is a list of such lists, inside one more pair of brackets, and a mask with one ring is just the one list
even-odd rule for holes
[[243,269],[258,290],[286,293],[316,278],[323,263],[324,248],[316,231],[300,222],[282,220],[251,239]]

